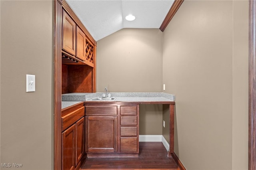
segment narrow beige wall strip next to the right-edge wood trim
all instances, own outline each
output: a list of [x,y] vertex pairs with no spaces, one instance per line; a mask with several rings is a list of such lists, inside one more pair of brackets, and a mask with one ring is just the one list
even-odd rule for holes
[[232,170],[248,169],[248,9],[233,1]]

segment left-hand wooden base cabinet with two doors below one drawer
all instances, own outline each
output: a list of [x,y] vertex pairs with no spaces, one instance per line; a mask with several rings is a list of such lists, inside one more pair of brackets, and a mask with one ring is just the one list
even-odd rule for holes
[[85,154],[83,103],[62,109],[62,170],[80,168]]

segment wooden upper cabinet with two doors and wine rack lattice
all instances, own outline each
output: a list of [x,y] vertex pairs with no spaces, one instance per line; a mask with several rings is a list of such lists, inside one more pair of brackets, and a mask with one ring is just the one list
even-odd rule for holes
[[62,63],[94,68],[95,40],[72,12],[62,10],[62,13]]

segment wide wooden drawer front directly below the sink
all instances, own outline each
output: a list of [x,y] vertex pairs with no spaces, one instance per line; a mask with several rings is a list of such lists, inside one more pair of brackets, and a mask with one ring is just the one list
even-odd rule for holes
[[86,106],[85,115],[117,115],[117,106]]

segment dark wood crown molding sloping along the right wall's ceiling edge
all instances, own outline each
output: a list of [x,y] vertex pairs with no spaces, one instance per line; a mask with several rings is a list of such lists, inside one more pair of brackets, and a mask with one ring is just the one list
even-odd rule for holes
[[159,28],[162,32],[164,32],[165,28],[168,26],[169,22],[172,20],[172,17],[178,11],[183,1],[184,0],[174,0],[169,12],[167,13],[166,17],[164,18],[164,21],[162,22]]

